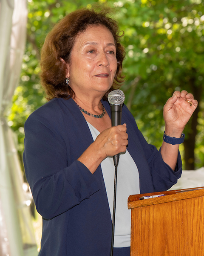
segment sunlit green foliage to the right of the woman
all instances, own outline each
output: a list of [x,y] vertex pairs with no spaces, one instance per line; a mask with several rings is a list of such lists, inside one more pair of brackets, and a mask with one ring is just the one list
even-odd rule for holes
[[[127,80],[122,89],[126,104],[147,141],[159,147],[163,105],[174,90],[195,95],[200,102],[198,120],[203,122],[204,2],[126,0],[115,5],[125,31]],[[184,131],[187,138],[192,132],[190,124]],[[198,125],[197,167],[204,164],[202,130]]]

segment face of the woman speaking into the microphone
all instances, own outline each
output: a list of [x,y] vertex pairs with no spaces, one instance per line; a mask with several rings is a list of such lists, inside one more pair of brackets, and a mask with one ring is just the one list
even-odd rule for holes
[[76,95],[104,95],[113,84],[116,70],[116,45],[105,26],[90,26],[77,35],[67,74]]

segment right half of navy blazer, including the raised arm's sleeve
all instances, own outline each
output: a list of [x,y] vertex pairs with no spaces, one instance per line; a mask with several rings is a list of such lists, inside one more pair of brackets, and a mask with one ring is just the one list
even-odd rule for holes
[[[134,117],[130,111],[127,110],[126,106],[125,114],[125,118],[130,122],[130,134],[132,134],[131,138],[134,139],[136,148],[141,154],[141,157],[137,159],[136,162],[137,166],[139,167],[141,192],[146,193],[148,188],[151,186],[153,186],[154,192],[166,191],[167,189],[170,189],[174,184],[177,183],[178,178],[181,177],[182,161],[180,153],[178,152],[176,169],[173,171],[173,169],[171,169],[170,166],[164,162],[160,150],[158,150],[154,145],[147,143],[141,131],[139,131]],[[144,156],[144,158],[142,156]],[[144,163],[144,159],[148,167],[146,166],[146,163]]]

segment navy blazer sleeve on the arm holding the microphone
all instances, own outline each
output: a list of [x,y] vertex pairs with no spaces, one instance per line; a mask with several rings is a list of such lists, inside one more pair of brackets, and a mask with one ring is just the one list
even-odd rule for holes
[[28,117],[24,144],[26,178],[43,218],[54,218],[100,189],[86,166],[68,159],[69,147],[60,131],[45,118],[34,113]]

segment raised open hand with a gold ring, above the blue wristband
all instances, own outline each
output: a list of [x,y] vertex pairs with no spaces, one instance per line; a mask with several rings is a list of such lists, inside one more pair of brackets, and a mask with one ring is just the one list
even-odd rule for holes
[[175,91],[164,105],[165,133],[170,137],[180,137],[197,106],[193,94],[186,90]]

